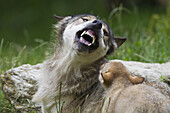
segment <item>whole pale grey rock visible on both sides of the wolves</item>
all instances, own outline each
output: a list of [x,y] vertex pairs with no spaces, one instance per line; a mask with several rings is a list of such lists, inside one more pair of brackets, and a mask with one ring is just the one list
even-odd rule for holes
[[[114,61],[122,62],[133,75],[145,77],[144,84],[155,87],[170,99],[170,87],[160,79],[161,76],[170,78],[170,62],[159,64],[122,60]],[[31,98],[38,88],[37,77],[41,75],[42,65],[31,66],[26,64],[10,69],[4,75],[1,75],[2,89],[5,96],[19,112],[40,112],[40,105],[32,103]]]

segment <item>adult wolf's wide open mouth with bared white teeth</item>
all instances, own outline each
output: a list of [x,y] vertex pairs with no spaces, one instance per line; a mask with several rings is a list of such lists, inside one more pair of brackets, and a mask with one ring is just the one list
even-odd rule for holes
[[93,30],[85,29],[77,33],[77,38],[79,39],[80,43],[86,46],[91,46],[95,43],[96,35]]

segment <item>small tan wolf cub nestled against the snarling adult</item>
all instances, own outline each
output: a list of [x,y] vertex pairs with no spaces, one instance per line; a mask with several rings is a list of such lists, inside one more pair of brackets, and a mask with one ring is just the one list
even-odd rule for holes
[[170,100],[155,88],[140,84],[120,62],[101,66],[99,81],[105,89],[102,113],[170,113]]

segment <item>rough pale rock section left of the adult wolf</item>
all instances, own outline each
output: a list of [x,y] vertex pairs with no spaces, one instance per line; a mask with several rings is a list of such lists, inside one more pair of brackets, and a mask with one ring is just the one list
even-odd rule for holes
[[32,103],[31,98],[38,88],[36,78],[41,74],[41,67],[42,64],[26,64],[1,75],[2,90],[18,112],[40,111],[40,105]]

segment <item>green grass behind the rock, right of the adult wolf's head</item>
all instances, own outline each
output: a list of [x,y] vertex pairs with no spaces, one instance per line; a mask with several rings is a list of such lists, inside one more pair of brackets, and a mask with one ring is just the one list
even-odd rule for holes
[[[170,21],[167,15],[150,15],[147,12],[120,14],[115,14],[109,22],[117,21],[117,23],[111,24],[115,35],[127,37],[128,40],[116,51],[114,56],[109,56],[109,59],[118,58],[150,63],[170,61],[170,52],[168,51]],[[127,15],[133,18],[129,18]]]

